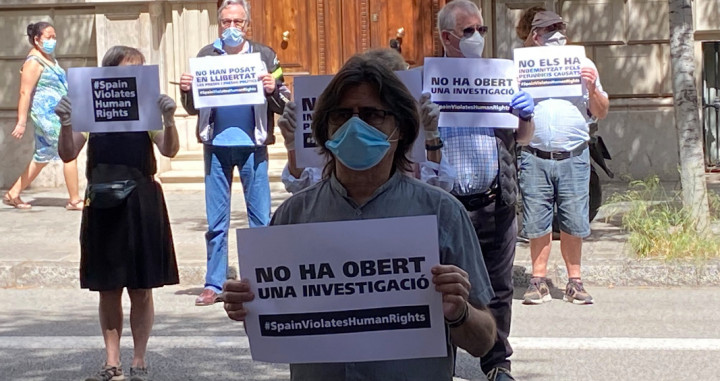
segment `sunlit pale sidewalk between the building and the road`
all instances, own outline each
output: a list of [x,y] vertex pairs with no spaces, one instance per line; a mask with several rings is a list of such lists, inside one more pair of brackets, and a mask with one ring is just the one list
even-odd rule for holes
[[[624,186],[609,183],[604,194]],[[282,184],[271,184],[273,210],[289,195]],[[202,190],[166,190],[180,279],[183,284],[204,284],[205,198]],[[35,189],[23,193],[31,210],[0,205],[0,287],[79,287],[78,243],[80,213],[66,211],[64,189]],[[242,187],[233,190],[231,229],[247,227]],[[592,235],[583,247],[583,279],[586,285],[614,286],[720,286],[720,262],[664,263],[634,259],[626,244],[627,234],[617,221],[603,222],[602,209],[592,223]],[[559,241],[553,243],[548,276],[556,286],[567,281]],[[230,234],[231,264],[237,264],[236,240]],[[515,284],[527,285],[530,252],[519,242],[515,256]]]

